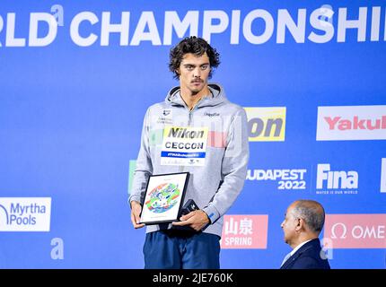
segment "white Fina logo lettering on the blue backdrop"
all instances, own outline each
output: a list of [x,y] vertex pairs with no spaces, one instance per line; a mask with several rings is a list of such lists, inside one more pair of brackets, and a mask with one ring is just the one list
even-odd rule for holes
[[[357,194],[358,173],[355,170],[332,171],[329,163],[318,164],[316,189],[317,194]],[[324,190],[320,190],[324,189]],[[329,192],[331,191],[331,192]]]

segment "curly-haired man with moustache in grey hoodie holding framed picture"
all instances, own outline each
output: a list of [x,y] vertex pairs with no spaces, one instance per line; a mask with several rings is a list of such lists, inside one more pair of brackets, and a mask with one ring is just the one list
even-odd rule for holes
[[[244,109],[226,99],[221,85],[208,83],[219,64],[205,39],[182,39],[169,63],[180,86],[146,111],[129,196],[133,226],[147,225],[145,268],[220,268],[224,213],[244,185],[249,142]],[[184,190],[162,182],[180,174],[189,174]],[[197,208],[181,215],[185,203]],[[173,210],[179,217],[162,222]]]

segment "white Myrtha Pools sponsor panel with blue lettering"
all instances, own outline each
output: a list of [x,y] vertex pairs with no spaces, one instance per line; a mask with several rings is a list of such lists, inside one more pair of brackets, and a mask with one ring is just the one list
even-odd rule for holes
[[50,197],[0,197],[0,231],[49,231]]

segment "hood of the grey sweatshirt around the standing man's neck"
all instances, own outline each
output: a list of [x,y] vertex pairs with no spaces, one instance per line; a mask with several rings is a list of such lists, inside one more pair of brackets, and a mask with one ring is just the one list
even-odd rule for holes
[[[207,87],[212,92],[213,97],[205,97],[203,100],[200,100],[197,104],[197,108],[214,107],[228,101],[226,99],[224,89],[220,84],[208,83]],[[168,92],[165,102],[171,104],[171,106],[186,107],[186,104],[180,95],[180,86],[176,86]]]

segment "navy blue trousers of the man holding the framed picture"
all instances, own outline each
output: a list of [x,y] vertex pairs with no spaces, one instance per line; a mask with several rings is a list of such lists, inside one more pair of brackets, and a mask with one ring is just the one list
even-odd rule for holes
[[220,237],[204,232],[146,233],[145,269],[219,269]]

